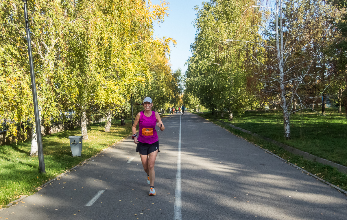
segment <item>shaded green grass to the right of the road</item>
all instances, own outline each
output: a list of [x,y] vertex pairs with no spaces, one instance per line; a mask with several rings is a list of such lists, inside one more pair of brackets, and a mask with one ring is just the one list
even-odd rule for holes
[[[220,117],[214,117],[210,112],[196,114],[212,121],[220,119]],[[288,141],[283,137],[283,121],[280,117],[281,112],[247,111],[243,116],[234,118],[231,124],[285,143],[315,156],[333,162],[340,161],[340,164],[346,166],[347,120],[344,118],[344,115],[332,113],[328,116],[321,116],[319,114],[305,112],[303,114],[291,116],[292,139]],[[227,122],[228,120],[222,119],[222,121]],[[339,172],[337,168],[309,161],[302,156],[289,153],[283,148],[269,143],[268,141],[253,137],[245,132],[226,126],[223,123],[217,121],[213,122],[228,129],[233,134],[245,138],[251,143],[268,149],[270,152],[321,177],[323,180],[337,185],[343,190],[347,190],[347,174]]]

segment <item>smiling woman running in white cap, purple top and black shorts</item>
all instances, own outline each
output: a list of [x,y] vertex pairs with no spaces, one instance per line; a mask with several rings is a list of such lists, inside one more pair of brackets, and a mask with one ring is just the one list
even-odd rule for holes
[[[155,126],[158,126],[161,131],[164,131],[165,127],[160,119],[158,112],[152,111],[152,99],[146,97],[142,105],[144,110],[139,112],[134,121],[133,125],[133,139],[134,143],[137,144],[136,152],[141,157],[143,169],[147,173],[147,183],[150,184],[149,195],[155,195],[154,190],[154,164],[156,155],[159,153],[159,140],[155,130]],[[138,138],[136,135],[136,126],[139,123]]]

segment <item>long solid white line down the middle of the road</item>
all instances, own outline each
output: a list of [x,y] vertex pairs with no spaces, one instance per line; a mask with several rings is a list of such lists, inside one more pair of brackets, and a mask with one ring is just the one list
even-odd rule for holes
[[178,157],[177,157],[177,173],[176,173],[176,192],[175,192],[175,209],[174,220],[182,219],[182,200],[181,200],[181,118],[179,118],[179,136],[178,136]]

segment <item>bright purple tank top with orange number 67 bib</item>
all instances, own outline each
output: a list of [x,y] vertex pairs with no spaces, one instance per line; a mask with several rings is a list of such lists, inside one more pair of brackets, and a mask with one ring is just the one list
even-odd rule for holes
[[153,144],[156,141],[158,141],[158,134],[156,134],[155,125],[156,125],[156,118],[155,118],[155,112],[152,111],[152,114],[150,117],[145,116],[143,111],[140,112],[140,119],[139,119],[139,127],[140,131],[138,134],[138,141],[146,144]]

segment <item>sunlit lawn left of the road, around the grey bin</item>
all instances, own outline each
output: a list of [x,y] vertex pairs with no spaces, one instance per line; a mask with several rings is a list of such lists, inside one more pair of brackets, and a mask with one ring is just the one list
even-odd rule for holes
[[29,157],[31,140],[0,146],[0,208],[21,196],[36,192],[36,188],[85,161],[131,134],[131,120],[120,126],[112,120],[110,132],[105,123],[87,127],[88,140],[83,140],[82,156],[72,157],[69,136],[81,135],[81,127],[42,137],[46,173],[40,173],[38,157]]

